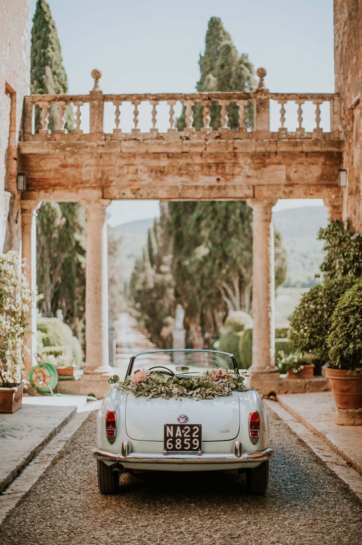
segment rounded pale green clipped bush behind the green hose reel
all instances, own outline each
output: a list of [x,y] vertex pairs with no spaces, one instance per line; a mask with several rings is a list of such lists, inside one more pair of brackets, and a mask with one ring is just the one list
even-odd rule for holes
[[39,317],[38,322],[38,351],[44,355],[53,354],[64,356],[62,362],[68,358],[69,365],[74,362],[82,364],[82,348],[77,337],[73,336],[69,325],[58,318]]

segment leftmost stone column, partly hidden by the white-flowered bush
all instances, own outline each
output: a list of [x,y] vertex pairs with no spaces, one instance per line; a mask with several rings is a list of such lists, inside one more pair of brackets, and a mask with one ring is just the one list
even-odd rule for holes
[[24,354],[26,377],[36,364],[36,211],[40,204],[38,201],[21,201],[21,255],[27,261],[26,276],[33,293],[30,328],[25,339],[25,346],[28,349],[28,353]]

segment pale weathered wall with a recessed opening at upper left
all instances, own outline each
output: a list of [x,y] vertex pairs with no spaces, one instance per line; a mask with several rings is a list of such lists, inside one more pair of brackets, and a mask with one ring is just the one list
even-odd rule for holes
[[19,249],[17,142],[30,90],[29,0],[0,2],[0,252]]

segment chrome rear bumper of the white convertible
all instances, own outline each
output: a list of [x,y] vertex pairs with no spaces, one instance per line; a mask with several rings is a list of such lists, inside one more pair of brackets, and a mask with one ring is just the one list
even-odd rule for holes
[[241,456],[234,454],[201,454],[197,455],[159,455],[159,454],[138,454],[130,453],[122,456],[120,452],[109,452],[101,449],[93,449],[93,456],[103,462],[135,463],[135,464],[244,464],[265,462],[275,454],[273,449],[265,449],[259,452],[243,452]]

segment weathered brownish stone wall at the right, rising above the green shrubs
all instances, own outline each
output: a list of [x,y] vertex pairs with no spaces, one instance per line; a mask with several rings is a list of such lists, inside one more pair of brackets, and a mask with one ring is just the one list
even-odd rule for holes
[[334,65],[346,140],[343,217],[362,231],[362,0],[334,0]]

